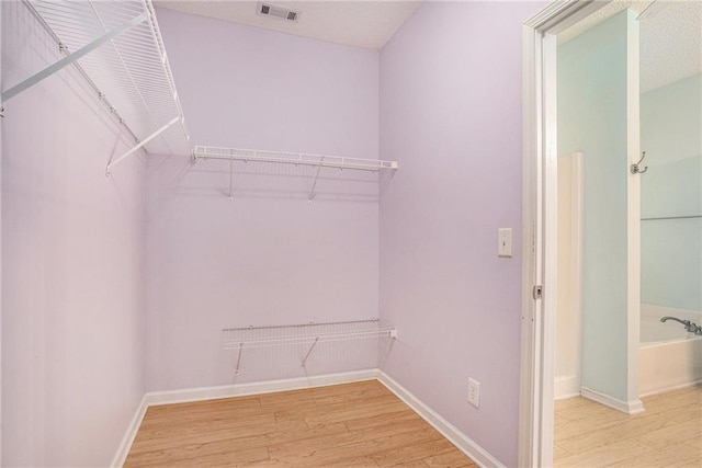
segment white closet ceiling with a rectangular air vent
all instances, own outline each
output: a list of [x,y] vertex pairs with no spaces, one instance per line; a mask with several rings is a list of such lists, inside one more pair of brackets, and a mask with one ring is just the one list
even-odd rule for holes
[[419,7],[419,0],[265,1],[299,13],[286,21],[257,13],[257,1],[156,0],[160,8],[216,18],[297,36],[354,47],[381,49]]

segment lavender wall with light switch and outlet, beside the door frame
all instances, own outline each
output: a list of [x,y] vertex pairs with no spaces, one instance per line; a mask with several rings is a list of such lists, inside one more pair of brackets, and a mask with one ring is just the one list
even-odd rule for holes
[[[521,323],[521,23],[545,3],[423,2],[381,54],[381,317],[386,372],[517,465]],[[514,256],[498,259],[512,227]],[[480,408],[467,403],[468,377]]]

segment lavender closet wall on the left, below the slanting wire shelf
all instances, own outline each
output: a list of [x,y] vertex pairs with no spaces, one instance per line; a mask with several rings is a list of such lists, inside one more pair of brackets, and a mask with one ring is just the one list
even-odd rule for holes
[[[7,89],[60,58],[2,2]],[[2,122],[2,465],[107,466],[143,395],[144,167],[71,69]]]

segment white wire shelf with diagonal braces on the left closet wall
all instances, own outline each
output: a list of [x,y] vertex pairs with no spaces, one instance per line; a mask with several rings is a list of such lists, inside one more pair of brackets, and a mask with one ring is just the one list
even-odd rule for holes
[[150,0],[23,0],[55,38],[58,62],[3,90],[2,101],[68,65],[76,65],[110,111],[135,138],[110,169],[144,148],[148,152],[192,152],[176,84]]

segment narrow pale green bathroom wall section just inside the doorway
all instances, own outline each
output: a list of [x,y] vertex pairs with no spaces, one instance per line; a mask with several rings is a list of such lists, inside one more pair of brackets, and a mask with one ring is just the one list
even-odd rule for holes
[[633,330],[638,343],[638,224],[629,219],[637,218],[638,198],[627,169],[637,152],[635,33],[634,14],[623,11],[557,56],[558,153],[582,151],[586,168],[581,385],[623,402],[638,398],[638,353],[630,353]]

